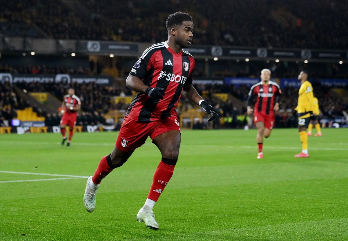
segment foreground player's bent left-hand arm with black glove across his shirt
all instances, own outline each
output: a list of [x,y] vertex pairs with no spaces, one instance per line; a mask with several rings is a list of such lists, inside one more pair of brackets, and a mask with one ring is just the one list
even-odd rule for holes
[[129,74],[126,79],[126,86],[139,93],[147,94],[151,99],[163,99],[165,90],[163,88],[151,88],[143,83],[138,77]]

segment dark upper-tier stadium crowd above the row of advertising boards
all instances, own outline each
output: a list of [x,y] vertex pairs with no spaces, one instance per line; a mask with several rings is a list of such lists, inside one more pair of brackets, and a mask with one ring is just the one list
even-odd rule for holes
[[[195,44],[251,47],[347,49],[348,3],[333,0],[207,1],[131,0],[80,1],[75,8],[63,1],[5,1],[0,15],[15,23],[34,23],[46,37],[160,42],[166,39],[165,20],[172,9],[188,11],[195,22]],[[154,14],[153,6],[161,9]],[[223,7],[222,7],[223,6]],[[321,13],[321,14],[318,14]],[[257,24],[255,24],[257,23]],[[11,26],[12,25],[12,26]],[[28,28],[29,29],[29,28]],[[36,33],[38,35],[39,33]],[[17,31],[27,37],[27,31]]]

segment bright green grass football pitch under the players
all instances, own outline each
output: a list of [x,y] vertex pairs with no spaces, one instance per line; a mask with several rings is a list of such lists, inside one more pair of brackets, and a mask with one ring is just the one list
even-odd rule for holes
[[[348,129],[309,137],[307,159],[293,157],[296,129],[275,129],[262,160],[256,130],[183,130],[158,231],[136,221],[161,158],[149,139],[102,181],[93,213],[86,178],[4,172],[93,175],[117,134],[76,133],[70,147],[60,134],[0,135],[0,240],[348,240]],[[38,179],[51,180],[27,181]]]

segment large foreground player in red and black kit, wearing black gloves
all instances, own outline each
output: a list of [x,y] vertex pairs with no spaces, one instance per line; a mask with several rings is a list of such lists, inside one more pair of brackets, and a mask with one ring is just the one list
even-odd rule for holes
[[153,182],[137,220],[158,229],[152,208],[171,179],[179,156],[180,124],[175,108],[182,90],[185,96],[211,115],[208,121],[222,116],[205,102],[192,86],[195,59],[182,48],[191,45],[192,18],[177,12],[166,21],[168,40],[152,45],[135,63],[126,80],[128,88],[139,92],[131,102],[111,154],[104,156],[86,184],[84,205],[93,212],[96,192],[101,180],[114,168],[122,166],[148,136],[158,147],[162,159],[153,175]]

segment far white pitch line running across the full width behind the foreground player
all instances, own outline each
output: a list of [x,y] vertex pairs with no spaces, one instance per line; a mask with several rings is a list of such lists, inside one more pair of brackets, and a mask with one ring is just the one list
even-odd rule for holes
[[[0,142],[2,144],[61,144],[60,142]],[[79,146],[114,146],[114,143],[73,143],[73,145],[79,145]],[[144,146],[155,146],[153,144],[144,144]],[[181,144],[182,147],[202,147],[202,148],[255,148],[255,146],[231,146],[231,145],[186,145]],[[291,150],[297,150],[301,149],[301,146],[294,147],[294,146],[264,146],[263,148],[269,148],[269,149],[291,149]],[[320,147],[310,147],[309,150],[327,150],[327,151],[348,151],[348,148],[320,148]]]

